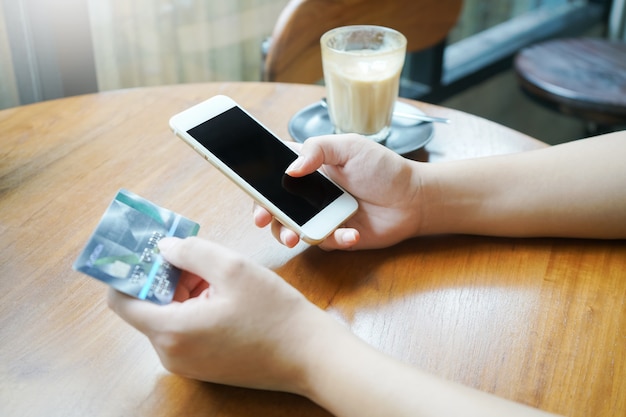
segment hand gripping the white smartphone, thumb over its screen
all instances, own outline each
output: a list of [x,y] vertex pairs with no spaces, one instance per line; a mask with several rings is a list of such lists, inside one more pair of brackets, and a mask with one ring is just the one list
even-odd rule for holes
[[[287,174],[300,177],[319,168],[359,202],[357,213],[320,247],[370,249],[391,246],[415,236],[420,227],[418,163],[355,134],[307,139]],[[274,237],[288,247],[298,235],[271,214],[254,208],[258,227],[271,224]]]

